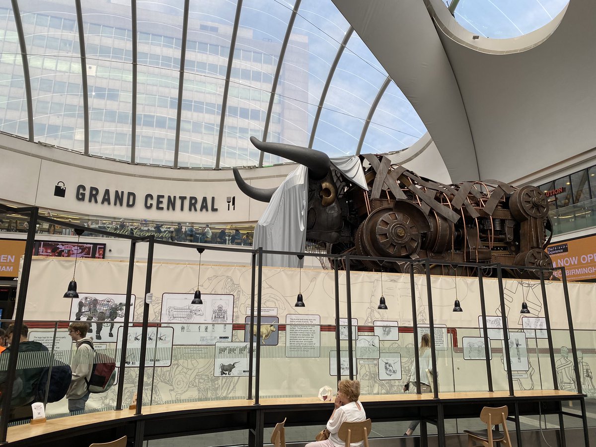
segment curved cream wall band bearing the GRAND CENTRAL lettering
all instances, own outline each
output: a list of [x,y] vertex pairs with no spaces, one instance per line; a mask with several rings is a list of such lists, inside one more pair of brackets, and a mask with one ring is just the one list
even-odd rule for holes
[[[62,153],[55,150],[53,155],[60,158]],[[73,166],[4,148],[0,148],[0,160],[0,200],[107,221],[253,222],[266,208],[266,203],[240,194],[231,172],[120,164],[110,170],[106,167],[112,164],[105,160],[77,158],[89,166]],[[120,167],[126,172],[119,172]],[[264,188],[278,183],[266,178],[254,182]]]

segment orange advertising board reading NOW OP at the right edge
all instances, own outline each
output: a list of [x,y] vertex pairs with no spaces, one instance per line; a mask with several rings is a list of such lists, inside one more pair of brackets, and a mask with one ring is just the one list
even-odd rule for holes
[[[550,244],[547,253],[555,267],[565,267],[567,281],[596,278],[596,236]],[[561,272],[555,276],[561,278]]]

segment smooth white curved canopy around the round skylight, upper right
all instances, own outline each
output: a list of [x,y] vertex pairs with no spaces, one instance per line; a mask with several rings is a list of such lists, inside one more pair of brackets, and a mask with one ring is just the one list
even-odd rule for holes
[[514,181],[596,145],[596,2],[571,0],[544,29],[489,49],[438,0],[334,3],[414,105],[453,181]]

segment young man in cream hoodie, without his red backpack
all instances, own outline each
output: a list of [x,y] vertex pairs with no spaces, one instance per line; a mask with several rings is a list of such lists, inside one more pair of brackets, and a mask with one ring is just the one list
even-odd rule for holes
[[85,410],[85,403],[89,399],[88,382],[91,379],[94,362],[94,346],[92,337],[87,337],[89,324],[76,321],[69,325],[69,335],[76,343],[76,351],[73,355],[72,381],[66,398],[69,399],[69,411],[77,414]]

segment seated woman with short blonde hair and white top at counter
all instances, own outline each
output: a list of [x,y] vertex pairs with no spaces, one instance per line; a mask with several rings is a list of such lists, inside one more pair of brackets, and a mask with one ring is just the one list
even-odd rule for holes
[[[335,409],[327,421],[329,439],[311,442],[306,447],[344,447],[346,445],[337,433],[344,422],[362,422],[367,419],[367,414],[358,401],[360,397],[360,382],[358,380],[342,380],[337,384]],[[361,447],[361,442],[353,442],[352,447]]]

